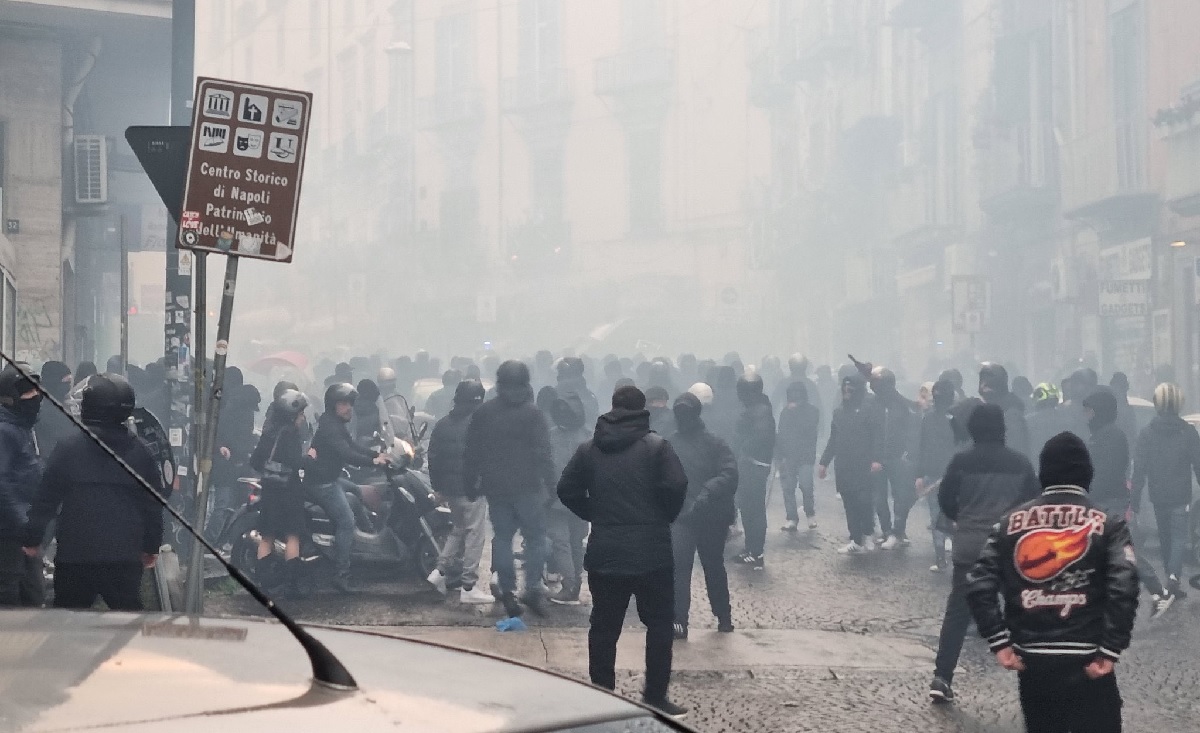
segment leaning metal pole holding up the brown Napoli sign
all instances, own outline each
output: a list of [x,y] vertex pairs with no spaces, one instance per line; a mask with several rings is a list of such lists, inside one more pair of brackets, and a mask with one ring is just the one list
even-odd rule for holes
[[[197,280],[199,282],[199,280]],[[224,287],[221,296],[221,316],[217,319],[217,342],[215,358],[212,359],[212,390],[209,395],[209,409],[205,410],[203,435],[199,440],[198,471],[196,475],[196,531],[204,534],[204,525],[208,519],[209,491],[212,481],[212,445],[217,438],[217,422],[221,419],[221,397],[224,389],[226,360],[229,354],[229,325],[233,320],[233,296],[238,289],[238,258],[226,258]],[[197,360],[203,360],[200,352],[196,354]],[[204,547],[199,542],[192,543],[192,557],[187,564],[187,613],[199,615],[204,613]]]

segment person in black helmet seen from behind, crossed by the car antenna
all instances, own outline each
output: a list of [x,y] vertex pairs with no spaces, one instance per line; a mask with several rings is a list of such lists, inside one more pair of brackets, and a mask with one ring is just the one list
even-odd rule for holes
[[[162,471],[150,449],[125,425],[133,405],[133,389],[124,377],[98,374],[84,390],[82,419],[162,493]],[[55,517],[54,605],[91,608],[98,596],[114,611],[140,611],[142,572],[154,567],[162,543],[162,509],[82,432],[64,438],[46,464],[22,533],[25,554],[37,555]]]

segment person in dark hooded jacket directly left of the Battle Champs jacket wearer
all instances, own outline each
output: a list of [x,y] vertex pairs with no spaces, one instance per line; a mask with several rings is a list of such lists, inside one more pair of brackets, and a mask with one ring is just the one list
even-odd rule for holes
[[1030,459],[1004,445],[1004,416],[1000,404],[980,404],[971,411],[967,431],[974,445],[950,459],[937,497],[942,513],[955,528],[953,584],[929,686],[935,703],[954,701],[954,668],[971,625],[967,572],[1000,517],[1042,491]]

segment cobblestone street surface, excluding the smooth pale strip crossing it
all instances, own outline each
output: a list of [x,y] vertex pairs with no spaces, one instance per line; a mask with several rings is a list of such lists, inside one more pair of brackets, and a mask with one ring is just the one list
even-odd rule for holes
[[[916,641],[930,649],[949,588],[947,575],[929,571],[931,542],[925,531],[924,504],[912,511],[913,545],[894,552],[842,557],[845,522],[830,482],[817,488],[816,531],[790,535],[778,530],[782,506],[774,492],[764,572],[730,566],[733,620],[739,629],[824,630],[880,635]],[[737,541],[730,551],[739,551]],[[698,564],[697,564],[698,565]],[[300,618],[317,623],[355,625],[467,625],[494,623],[498,611],[443,601],[414,578],[397,581],[391,569],[362,576],[365,593],[347,605],[320,593],[295,603]],[[1133,648],[1118,666],[1126,701],[1127,731],[1200,729],[1200,603],[1177,603],[1157,621],[1139,613]],[[691,626],[715,626],[707,612],[698,566],[694,582]],[[210,597],[216,613],[257,613],[245,596]],[[554,608],[541,626],[587,626],[587,607]],[[628,624],[640,629],[635,615]],[[701,631],[696,636],[701,636]],[[983,642],[968,637],[955,679],[953,707],[931,707],[925,697],[931,668],[871,669],[862,665],[839,668],[769,666],[725,668],[714,660],[712,672],[677,672],[672,696],[692,708],[688,722],[698,731],[827,731],[872,733],[890,731],[1002,733],[1022,729],[1016,704],[1016,679],[1000,669]],[[578,669],[563,671],[580,674]],[[619,687],[638,692],[640,677],[625,673]]]

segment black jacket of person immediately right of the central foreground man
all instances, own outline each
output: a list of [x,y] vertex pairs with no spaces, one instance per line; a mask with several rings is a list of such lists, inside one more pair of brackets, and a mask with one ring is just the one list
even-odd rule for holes
[[724,440],[708,432],[700,419],[679,421],[671,445],[688,476],[688,498],[676,522],[696,528],[722,530],[733,523],[733,495],[738,488],[738,462]]

